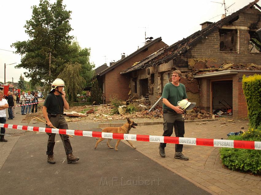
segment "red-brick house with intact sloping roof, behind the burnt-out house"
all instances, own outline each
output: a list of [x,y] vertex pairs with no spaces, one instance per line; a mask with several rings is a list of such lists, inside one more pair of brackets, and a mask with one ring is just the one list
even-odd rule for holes
[[110,98],[115,94],[118,95],[119,99],[128,99],[130,93],[129,78],[127,75],[121,75],[120,73],[135,62],[139,62],[166,45],[167,44],[162,41],[161,37],[154,40],[148,40],[146,44],[137,51],[127,57],[123,54],[119,61],[115,63],[111,62],[108,68],[97,73],[96,77],[103,92],[103,103],[109,103]]

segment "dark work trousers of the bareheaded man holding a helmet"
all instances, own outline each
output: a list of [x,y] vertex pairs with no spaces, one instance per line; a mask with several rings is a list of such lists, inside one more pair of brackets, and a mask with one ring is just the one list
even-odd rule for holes
[[[166,111],[165,111],[166,112]],[[184,137],[185,126],[182,114],[177,114],[176,112],[167,111],[163,112],[163,134],[162,136],[171,136],[173,133],[173,127],[176,137]],[[160,147],[165,148],[166,143],[160,143]],[[182,152],[183,144],[175,144],[175,152]]]

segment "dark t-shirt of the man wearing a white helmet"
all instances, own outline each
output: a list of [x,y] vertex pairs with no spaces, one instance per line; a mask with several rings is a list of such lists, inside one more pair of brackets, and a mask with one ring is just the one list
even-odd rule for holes
[[[62,95],[56,96],[55,98],[55,94],[54,93],[50,93],[46,96],[45,98],[45,103],[44,106],[47,107],[47,112],[48,113],[52,113],[52,114],[61,114],[64,113],[64,100],[62,98]],[[60,111],[59,111],[59,107],[57,104],[57,100],[59,102],[59,106],[60,106]]]

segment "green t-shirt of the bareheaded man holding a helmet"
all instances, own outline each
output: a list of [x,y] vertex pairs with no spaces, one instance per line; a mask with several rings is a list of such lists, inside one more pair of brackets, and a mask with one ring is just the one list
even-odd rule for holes
[[[177,106],[177,102],[187,98],[186,88],[184,84],[179,83],[179,86],[167,83],[162,92],[161,98],[166,98],[173,106]],[[163,103],[163,109],[173,111]]]

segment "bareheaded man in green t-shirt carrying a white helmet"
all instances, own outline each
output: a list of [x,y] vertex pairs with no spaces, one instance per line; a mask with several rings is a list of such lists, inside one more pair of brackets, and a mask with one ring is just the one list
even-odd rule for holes
[[[163,135],[171,136],[173,133],[173,127],[176,137],[184,137],[185,127],[184,119],[182,117],[183,110],[181,106],[176,106],[178,101],[187,99],[185,85],[179,83],[181,79],[181,72],[175,70],[172,73],[172,82],[167,83],[162,92],[163,102]],[[160,143],[159,154],[162,158],[165,158],[166,143]],[[188,160],[189,158],[184,156],[182,152],[183,144],[175,145],[175,159]]]

